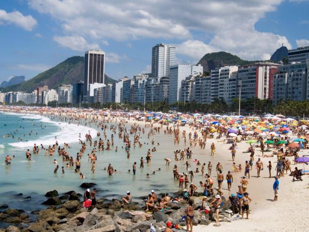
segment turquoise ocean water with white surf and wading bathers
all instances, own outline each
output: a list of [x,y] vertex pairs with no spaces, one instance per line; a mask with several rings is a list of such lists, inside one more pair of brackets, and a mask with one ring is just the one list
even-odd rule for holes
[[[129,127],[130,125],[127,125],[128,131]],[[139,159],[143,157],[145,160],[147,150],[153,147],[151,145],[152,138],[147,139],[148,128],[145,128],[144,135],[141,134],[141,142],[144,145],[142,148],[137,146],[133,149],[132,147],[130,159],[126,158],[126,153],[121,148],[124,147],[123,141],[118,139],[117,134],[114,135],[114,143],[115,146],[118,146],[118,152],[114,150],[97,152],[98,161],[94,174],[91,172],[91,163],[88,162],[87,157],[87,154],[91,151],[88,143],[81,160],[81,172],[87,178],[81,180],[79,174],[74,172],[73,167],[66,167],[66,163],[62,162],[57,152],[53,156],[45,156],[41,144],[47,148],[49,145],[55,144],[56,140],[60,147],[65,142],[69,143],[71,148],[67,151],[75,159],[76,153],[79,152],[81,147],[78,143],[78,134],[81,133],[81,138],[84,138],[84,135],[90,131],[94,142],[99,139],[96,132],[100,131],[96,125],[88,123],[87,127],[77,126],[75,124],[56,122],[41,115],[1,113],[0,128],[0,175],[2,177],[0,180],[0,205],[8,204],[11,208],[22,208],[27,211],[41,209],[44,206],[40,205],[40,203],[46,199],[44,194],[47,191],[57,189],[59,193],[64,193],[75,190],[83,194],[84,190],[79,187],[83,182],[96,183],[98,196],[107,199],[123,196],[126,191],[130,191],[133,198],[137,200],[138,197],[147,195],[151,189],[155,189],[158,193],[179,190],[177,182],[173,180],[173,165],[166,166],[164,158],[173,158],[173,151],[183,146],[174,146],[173,136],[164,135],[163,130],[156,135],[156,145],[157,142],[160,143],[159,147],[156,146],[158,151],[151,153],[153,156],[151,164],[145,163],[143,169],[139,169]],[[107,129],[107,139],[111,139],[111,134],[112,132]],[[10,136],[4,137],[5,135]],[[132,135],[130,138],[133,140]],[[103,140],[106,147],[106,140]],[[147,145],[147,143],[149,144]],[[30,149],[32,153],[34,144],[40,147],[40,152],[38,155],[32,155],[33,162],[28,162],[26,160],[26,151]],[[6,155],[11,157],[15,155],[11,165],[5,165]],[[53,163],[54,159],[58,161],[60,166],[57,174],[53,172],[56,166]],[[132,169],[134,161],[137,162],[135,176],[128,173],[128,169]],[[114,169],[117,170],[117,173],[114,173],[113,176],[108,176],[107,172],[103,170],[104,167],[108,166],[108,163],[111,163]],[[64,174],[61,172],[61,166],[65,167]],[[157,171],[158,168],[161,168],[160,172]],[[184,166],[181,168],[184,169]],[[156,174],[146,178],[146,173],[150,174],[153,171],[156,171]],[[18,196],[19,193],[23,193],[23,195]],[[25,200],[24,198],[27,196],[32,198]],[[138,200],[140,201],[140,199]]]

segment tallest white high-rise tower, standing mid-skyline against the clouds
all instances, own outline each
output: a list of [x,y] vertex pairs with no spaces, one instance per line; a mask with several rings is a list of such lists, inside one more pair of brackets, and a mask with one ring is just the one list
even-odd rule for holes
[[170,75],[170,67],[176,64],[176,47],[169,44],[157,44],[152,48],[151,76]]

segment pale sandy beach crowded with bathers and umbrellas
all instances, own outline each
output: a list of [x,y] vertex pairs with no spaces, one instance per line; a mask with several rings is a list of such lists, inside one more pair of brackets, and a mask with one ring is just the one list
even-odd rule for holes
[[[43,114],[44,115],[44,114]],[[70,114],[62,114],[62,116],[66,115],[67,117],[71,117]],[[94,114],[95,115],[95,114]],[[100,116],[99,121],[103,118]],[[106,119],[106,117],[105,117]],[[119,117],[118,119],[124,119]],[[144,127],[145,122],[136,121],[131,118],[128,121],[128,126],[131,124],[137,124],[141,127]],[[159,126],[159,124],[153,122],[153,126]],[[182,132],[186,131],[186,135],[188,136],[189,132],[192,134],[197,131],[200,135],[200,131],[192,126],[185,125],[180,127],[180,144],[173,145],[173,136],[169,136],[169,139],[165,141],[163,146],[157,147],[158,152],[156,156],[160,156],[162,159],[162,163],[164,165],[164,158],[168,157],[172,159],[171,166],[177,164],[179,166],[179,171],[186,171],[184,161],[175,161],[173,151],[176,149],[184,149],[184,139],[182,138]],[[146,134],[144,135],[146,136]],[[157,135],[158,138],[165,137],[164,133]],[[291,134],[289,134],[291,136]],[[157,138],[157,137],[156,137]],[[295,136],[291,138],[296,138]],[[150,139],[149,139],[150,141]],[[215,143],[216,146],[216,154],[215,156],[210,156],[210,145],[211,143]],[[170,146],[169,146],[170,145]],[[119,144],[118,144],[119,146]],[[188,141],[187,146],[188,147]],[[212,162],[213,172],[212,177],[214,179],[214,187],[217,187],[218,183],[216,181],[216,171],[215,166],[218,162],[221,162],[223,165],[223,174],[224,177],[227,174],[227,171],[232,171],[232,158],[231,152],[229,150],[231,144],[226,143],[226,138],[223,137],[221,139],[207,139],[206,148],[200,149],[199,147],[192,147],[193,156],[192,160],[189,160],[191,164],[191,170],[195,170],[196,167],[200,169],[201,166],[196,166],[196,163],[192,162],[194,159],[197,159],[201,162],[201,164],[208,163],[208,161]],[[249,147],[249,144],[246,141],[242,141],[237,143],[236,146],[236,164],[241,164],[244,167],[245,161],[249,161],[250,153],[243,153]],[[299,152],[299,156],[307,155],[308,150],[301,150]],[[266,154],[271,154],[268,152]],[[144,155],[144,154],[143,154]],[[274,182],[274,178],[268,178],[268,169],[266,168],[268,161],[271,161],[273,169],[272,175],[275,175],[275,166],[277,157],[270,158],[262,158],[262,153],[260,148],[255,149],[254,156],[254,165],[252,170],[250,171],[251,178],[248,179],[248,188],[247,192],[249,193],[252,202],[250,203],[250,214],[249,220],[236,220],[236,216],[233,216],[232,222],[220,222],[220,227],[212,226],[210,224],[208,226],[198,225],[194,226],[194,231],[305,231],[308,227],[308,219],[309,216],[306,215],[306,210],[309,208],[309,203],[306,202],[307,193],[308,193],[308,175],[303,176],[303,181],[295,181],[292,182],[292,177],[285,175],[284,177],[279,178],[279,196],[278,201],[272,201],[274,197],[274,192],[272,189],[272,185]],[[256,169],[255,162],[258,158],[261,158],[261,161],[264,165],[264,170],[261,171],[261,177],[256,178]],[[288,157],[291,161],[292,170],[294,167],[298,167],[299,169],[303,168],[302,164],[293,165],[293,157]],[[162,165],[162,166],[163,166]],[[306,165],[305,165],[306,168]],[[309,169],[309,168],[308,168]],[[207,168],[205,169],[205,173],[207,173]],[[226,180],[223,182],[222,191],[224,193],[224,197],[228,198],[231,193],[236,193],[240,184],[240,180],[244,175],[244,170],[240,173],[232,173],[234,181],[232,183],[231,192],[227,189]],[[173,173],[171,171],[171,175],[168,178],[173,178]],[[195,173],[193,182],[196,186],[198,186],[198,192],[202,192],[203,188],[199,187],[199,181],[204,182],[205,178],[201,176],[200,173]],[[174,181],[175,182],[175,181]],[[176,181],[177,185],[178,182]],[[196,202],[200,202],[200,197],[193,197]]]

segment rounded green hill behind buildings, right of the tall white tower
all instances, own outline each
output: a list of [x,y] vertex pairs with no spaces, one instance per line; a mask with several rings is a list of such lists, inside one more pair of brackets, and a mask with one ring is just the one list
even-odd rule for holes
[[258,61],[248,61],[242,60],[238,56],[232,55],[228,52],[213,52],[207,53],[202,59],[197,63],[203,66],[204,72],[210,72],[211,70],[219,67],[229,66],[229,65],[248,65]]

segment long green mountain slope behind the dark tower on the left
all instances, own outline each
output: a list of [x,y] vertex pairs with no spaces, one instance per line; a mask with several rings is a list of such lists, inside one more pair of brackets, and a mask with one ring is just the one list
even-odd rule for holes
[[[3,88],[1,91],[32,92],[42,85],[48,85],[49,88],[57,89],[61,84],[74,84],[79,80],[84,80],[84,60],[85,58],[82,56],[70,57],[27,81]],[[116,82],[116,80],[108,77],[106,74],[104,80],[105,84]]]

